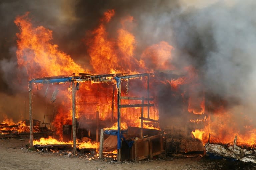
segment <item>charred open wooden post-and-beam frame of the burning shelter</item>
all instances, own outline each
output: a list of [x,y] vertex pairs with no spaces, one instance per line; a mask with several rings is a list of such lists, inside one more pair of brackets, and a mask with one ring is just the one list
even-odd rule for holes
[[[121,108],[132,108],[132,107],[141,107],[141,133],[140,136],[143,136],[143,120],[151,121],[151,122],[158,122],[158,120],[150,119],[149,110],[150,107],[154,106],[154,104],[150,104],[150,101],[154,100],[150,98],[149,94],[149,77],[153,75],[153,73],[142,73],[142,74],[134,74],[134,75],[124,75],[124,74],[106,74],[106,75],[94,75],[94,74],[79,74],[79,76],[69,76],[69,77],[44,77],[44,78],[36,78],[29,81],[29,120],[30,120],[30,147],[33,147],[33,115],[32,115],[32,87],[34,83],[40,84],[50,84],[50,83],[72,83],[72,133],[73,133],[73,153],[76,153],[76,86],[80,82],[85,81],[93,81],[93,82],[112,82],[116,81],[116,88],[117,88],[117,123],[118,123],[118,161],[121,160]],[[127,97],[121,96],[121,80],[129,80],[139,77],[147,77],[147,97]],[[113,89],[114,93],[114,89]],[[114,100],[114,99],[112,99]],[[141,104],[121,104],[121,100],[141,100]],[[147,104],[144,104],[144,101],[147,101]],[[147,107],[148,115],[147,118],[143,117],[144,107]],[[112,107],[113,108],[113,107]]]

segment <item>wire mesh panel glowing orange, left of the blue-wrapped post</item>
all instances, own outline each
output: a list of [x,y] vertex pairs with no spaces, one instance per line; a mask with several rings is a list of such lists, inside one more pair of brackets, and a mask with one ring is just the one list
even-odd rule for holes
[[113,83],[83,82],[76,93],[76,118],[79,120],[112,120]]

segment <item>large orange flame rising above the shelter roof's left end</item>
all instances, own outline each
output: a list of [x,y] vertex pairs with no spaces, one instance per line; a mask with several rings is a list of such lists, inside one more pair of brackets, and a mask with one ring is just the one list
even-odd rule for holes
[[29,80],[85,72],[68,54],[58,50],[58,45],[51,42],[51,30],[32,26],[28,14],[16,17],[14,23],[20,30],[17,33],[18,65],[26,69]]

